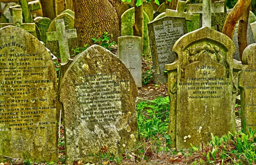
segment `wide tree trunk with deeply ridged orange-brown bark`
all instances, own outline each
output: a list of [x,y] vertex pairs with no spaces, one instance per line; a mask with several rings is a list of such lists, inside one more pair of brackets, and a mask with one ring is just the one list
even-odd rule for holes
[[121,0],[73,0],[77,38],[73,39],[72,48],[93,45],[92,38],[100,38],[104,31],[113,34],[110,42],[117,42],[120,5]]

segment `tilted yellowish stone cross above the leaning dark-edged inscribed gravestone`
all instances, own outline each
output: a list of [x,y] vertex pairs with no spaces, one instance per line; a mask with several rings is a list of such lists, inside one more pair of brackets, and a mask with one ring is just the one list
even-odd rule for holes
[[186,20],[192,21],[193,14],[187,14],[186,12],[184,12],[185,6],[186,2],[179,0],[176,10],[166,9],[166,16],[185,17]]

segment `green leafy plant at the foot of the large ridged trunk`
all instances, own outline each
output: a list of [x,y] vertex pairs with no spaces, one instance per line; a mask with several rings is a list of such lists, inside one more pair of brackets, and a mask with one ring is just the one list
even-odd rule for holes
[[96,38],[92,38],[94,43],[96,43],[97,45],[101,45],[103,48],[106,48],[108,50],[112,50],[111,48],[109,48],[111,45],[116,45],[116,42],[110,42],[110,37],[113,37],[113,34],[108,34],[108,32],[104,31],[104,33],[102,34],[102,36],[98,39]]

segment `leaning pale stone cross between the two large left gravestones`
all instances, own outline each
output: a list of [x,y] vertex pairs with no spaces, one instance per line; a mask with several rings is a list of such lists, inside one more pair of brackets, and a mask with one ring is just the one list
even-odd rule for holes
[[56,31],[46,33],[47,41],[58,41],[61,63],[70,58],[67,39],[76,38],[76,29],[66,30],[64,20],[55,20]]

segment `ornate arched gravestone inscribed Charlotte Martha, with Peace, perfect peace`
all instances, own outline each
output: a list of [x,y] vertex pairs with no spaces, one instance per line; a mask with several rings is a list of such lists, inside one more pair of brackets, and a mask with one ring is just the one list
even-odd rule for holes
[[[232,40],[211,28],[182,36],[173,46],[177,60],[166,64],[173,147],[190,148],[236,129]],[[218,119],[218,120],[217,120]]]

